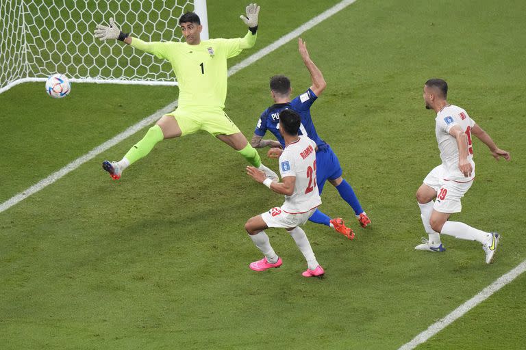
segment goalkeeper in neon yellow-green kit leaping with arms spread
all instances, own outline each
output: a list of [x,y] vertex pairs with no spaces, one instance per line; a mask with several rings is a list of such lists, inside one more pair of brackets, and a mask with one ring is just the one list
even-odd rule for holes
[[179,26],[186,42],[144,42],[123,33],[110,18],[110,26],[97,25],[95,37],[100,40],[121,40],[134,48],[168,60],[179,83],[178,107],[160,118],[121,161],[104,161],[102,167],[114,180],[123,170],[145,157],[162,139],[208,131],[238,151],[247,161],[262,170],[268,178],[277,174],[262,165],[258,152],[247,142],[225,108],[227,96],[227,59],[239,55],[255,44],[260,7],[247,6],[247,16],[241,19],[249,27],[244,38],[210,39],[201,41],[201,21],[194,12],[179,18]]

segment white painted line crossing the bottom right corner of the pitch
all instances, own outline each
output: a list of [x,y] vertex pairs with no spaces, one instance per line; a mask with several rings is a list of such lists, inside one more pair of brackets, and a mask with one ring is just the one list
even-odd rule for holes
[[418,336],[414,337],[413,340],[411,340],[410,342],[404,344],[402,347],[400,347],[399,350],[411,350],[418,347],[418,345],[421,345],[423,342],[426,342],[429,338],[440,332],[442,329],[444,329],[448,325],[451,325],[451,323],[453,323],[456,319],[459,319],[460,317],[464,316],[466,312],[468,312],[472,308],[475,308],[475,306],[480,304],[482,301],[488,299],[488,297],[490,297],[493,293],[499,291],[500,288],[512,282],[515,278],[518,277],[518,275],[521,275],[521,273],[523,273],[524,271],[526,271],[526,260],[521,262],[508,273],[501,275],[501,277],[495,280],[495,282],[484,288],[480,293],[475,295],[475,297],[469,299],[464,304],[453,310],[446,317],[430,325],[429,328],[427,328],[421,334],[418,334]]

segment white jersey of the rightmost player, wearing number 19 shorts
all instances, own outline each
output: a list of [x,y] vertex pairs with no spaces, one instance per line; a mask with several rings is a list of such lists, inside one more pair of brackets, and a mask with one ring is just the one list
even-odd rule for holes
[[[466,178],[458,168],[458,146],[455,137],[449,135],[454,125],[460,126],[468,136],[468,161],[473,167],[471,177]],[[444,165],[445,180],[469,181],[475,177],[475,163],[473,162],[473,145],[471,144],[471,128],[475,125],[464,109],[447,105],[436,114],[436,141],[440,150],[440,159]]]

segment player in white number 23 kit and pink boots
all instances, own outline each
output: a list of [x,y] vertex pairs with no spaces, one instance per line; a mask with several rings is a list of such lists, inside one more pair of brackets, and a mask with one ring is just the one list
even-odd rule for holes
[[281,183],[267,178],[264,172],[255,167],[247,167],[247,174],[256,181],[285,195],[285,203],[281,207],[251,217],[245,224],[245,230],[255,246],[264,254],[264,258],[249,265],[254,271],[280,267],[283,263],[264,231],[275,227],[285,228],[305,256],[308,269],[302,273],[303,276],[312,277],[325,273],[316,261],[305,231],[299,227],[305,224],[321,204],[316,188],[316,142],[307,136],[298,135],[300,124],[301,117],[292,109],[286,109],[279,115],[279,132],[285,139],[285,149],[279,157]]

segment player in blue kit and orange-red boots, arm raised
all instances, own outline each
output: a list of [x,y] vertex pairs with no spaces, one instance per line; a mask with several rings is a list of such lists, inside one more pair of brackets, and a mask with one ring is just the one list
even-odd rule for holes
[[[255,127],[251,145],[254,148],[271,146],[271,150],[268,151],[268,157],[279,157],[279,154],[283,152],[281,148],[285,146],[284,139],[281,137],[278,129],[279,113],[284,109],[297,111],[301,116],[299,135],[307,135],[310,139],[314,140],[318,146],[318,151],[316,152],[316,183],[319,193],[321,194],[323,185],[325,185],[325,182],[328,180],[331,185],[336,187],[340,196],[353,208],[356,218],[360,221],[360,226],[366,228],[368,224],[371,224],[371,220],[362,209],[351,185],[342,178],[342,168],[340,167],[338,157],[336,157],[336,154],[331,150],[331,147],[316,133],[316,128],[310,116],[312,103],[322,94],[327,83],[325,83],[325,79],[323,79],[321,70],[319,70],[314,62],[312,62],[312,59],[310,59],[307,46],[301,38],[298,39],[298,47],[303,63],[310,72],[312,86],[303,94],[291,99],[290,94],[292,93],[292,88],[290,87],[290,80],[283,75],[272,77],[270,83],[271,95],[275,104],[265,109],[261,114],[258,125]],[[263,139],[266,131],[273,133],[277,141]],[[354,233],[350,228],[345,227],[342,219],[331,219],[319,209],[314,212],[309,220],[316,224],[330,226],[351,239],[354,237]]]

